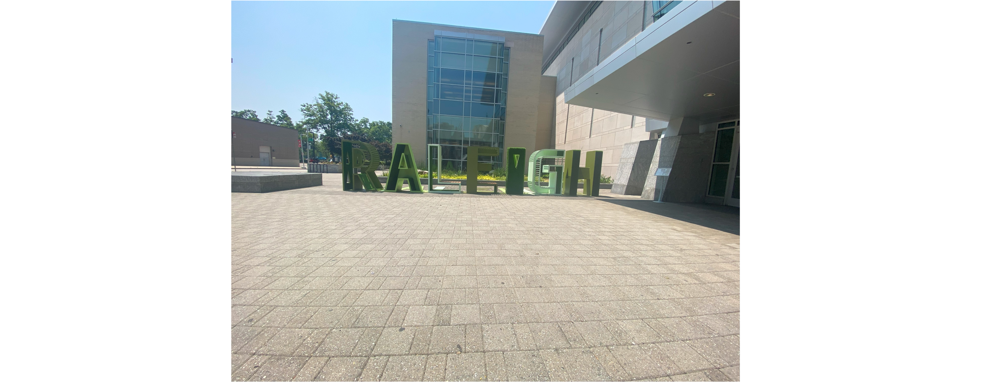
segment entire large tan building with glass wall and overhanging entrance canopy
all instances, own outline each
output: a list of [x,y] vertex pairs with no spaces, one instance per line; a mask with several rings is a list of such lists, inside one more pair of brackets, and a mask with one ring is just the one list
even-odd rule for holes
[[394,141],[454,168],[473,145],[602,150],[615,193],[738,207],[739,6],[557,1],[539,35],[395,20]]

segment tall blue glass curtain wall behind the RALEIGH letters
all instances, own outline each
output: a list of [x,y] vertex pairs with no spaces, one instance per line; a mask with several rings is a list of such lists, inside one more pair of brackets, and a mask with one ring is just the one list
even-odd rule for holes
[[443,169],[464,171],[470,146],[497,147],[498,156],[480,161],[501,167],[509,56],[503,43],[429,40],[426,143],[442,145]]

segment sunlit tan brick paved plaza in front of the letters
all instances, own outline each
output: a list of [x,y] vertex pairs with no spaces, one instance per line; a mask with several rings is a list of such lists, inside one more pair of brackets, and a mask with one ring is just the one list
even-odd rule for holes
[[738,216],[323,179],[232,193],[233,381],[739,380]]

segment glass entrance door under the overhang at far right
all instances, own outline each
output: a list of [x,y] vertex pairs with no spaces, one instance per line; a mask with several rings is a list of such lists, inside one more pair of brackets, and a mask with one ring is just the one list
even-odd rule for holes
[[739,120],[718,123],[711,157],[708,195],[739,207]]

